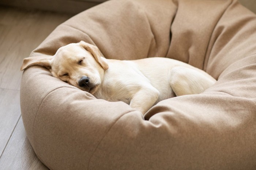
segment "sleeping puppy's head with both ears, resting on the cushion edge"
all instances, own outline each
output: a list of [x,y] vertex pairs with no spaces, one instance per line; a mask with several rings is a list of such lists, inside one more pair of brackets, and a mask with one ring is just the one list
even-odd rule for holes
[[84,41],[61,47],[53,56],[25,58],[20,70],[33,65],[45,66],[54,77],[91,94],[97,91],[104,71],[108,69],[99,49]]

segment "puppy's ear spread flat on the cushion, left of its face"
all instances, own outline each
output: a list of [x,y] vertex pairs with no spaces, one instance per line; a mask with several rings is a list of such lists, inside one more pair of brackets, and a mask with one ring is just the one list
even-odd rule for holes
[[25,70],[26,68],[34,65],[44,66],[46,68],[50,68],[50,61],[53,59],[51,55],[42,55],[38,57],[28,57],[23,59],[23,64],[20,68],[20,71]]

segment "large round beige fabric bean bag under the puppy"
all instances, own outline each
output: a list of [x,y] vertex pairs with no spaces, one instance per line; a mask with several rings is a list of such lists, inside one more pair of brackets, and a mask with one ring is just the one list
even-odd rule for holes
[[256,169],[256,15],[236,0],[112,0],[59,25],[31,56],[84,40],[108,59],[167,57],[217,83],[143,115],[40,66],[24,71],[27,137],[50,169]]

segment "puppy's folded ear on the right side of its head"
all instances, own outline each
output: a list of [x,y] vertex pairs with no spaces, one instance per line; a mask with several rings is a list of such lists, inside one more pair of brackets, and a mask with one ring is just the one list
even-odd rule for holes
[[108,63],[106,63],[104,60],[102,60],[98,47],[96,47],[92,44],[86,43],[84,41],[80,41],[80,45],[85,50],[91,52],[91,54],[94,56],[95,60],[101,65],[101,67],[104,70],[108,70],[108,68],[109,68]]

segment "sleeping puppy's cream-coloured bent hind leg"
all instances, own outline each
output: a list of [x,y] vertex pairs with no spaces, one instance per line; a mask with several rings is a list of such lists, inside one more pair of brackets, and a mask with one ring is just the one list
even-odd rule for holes
[[215,82],[214,78],[197,68],[178,66],[171,70],[170,85],[177,96],[202,93]]

